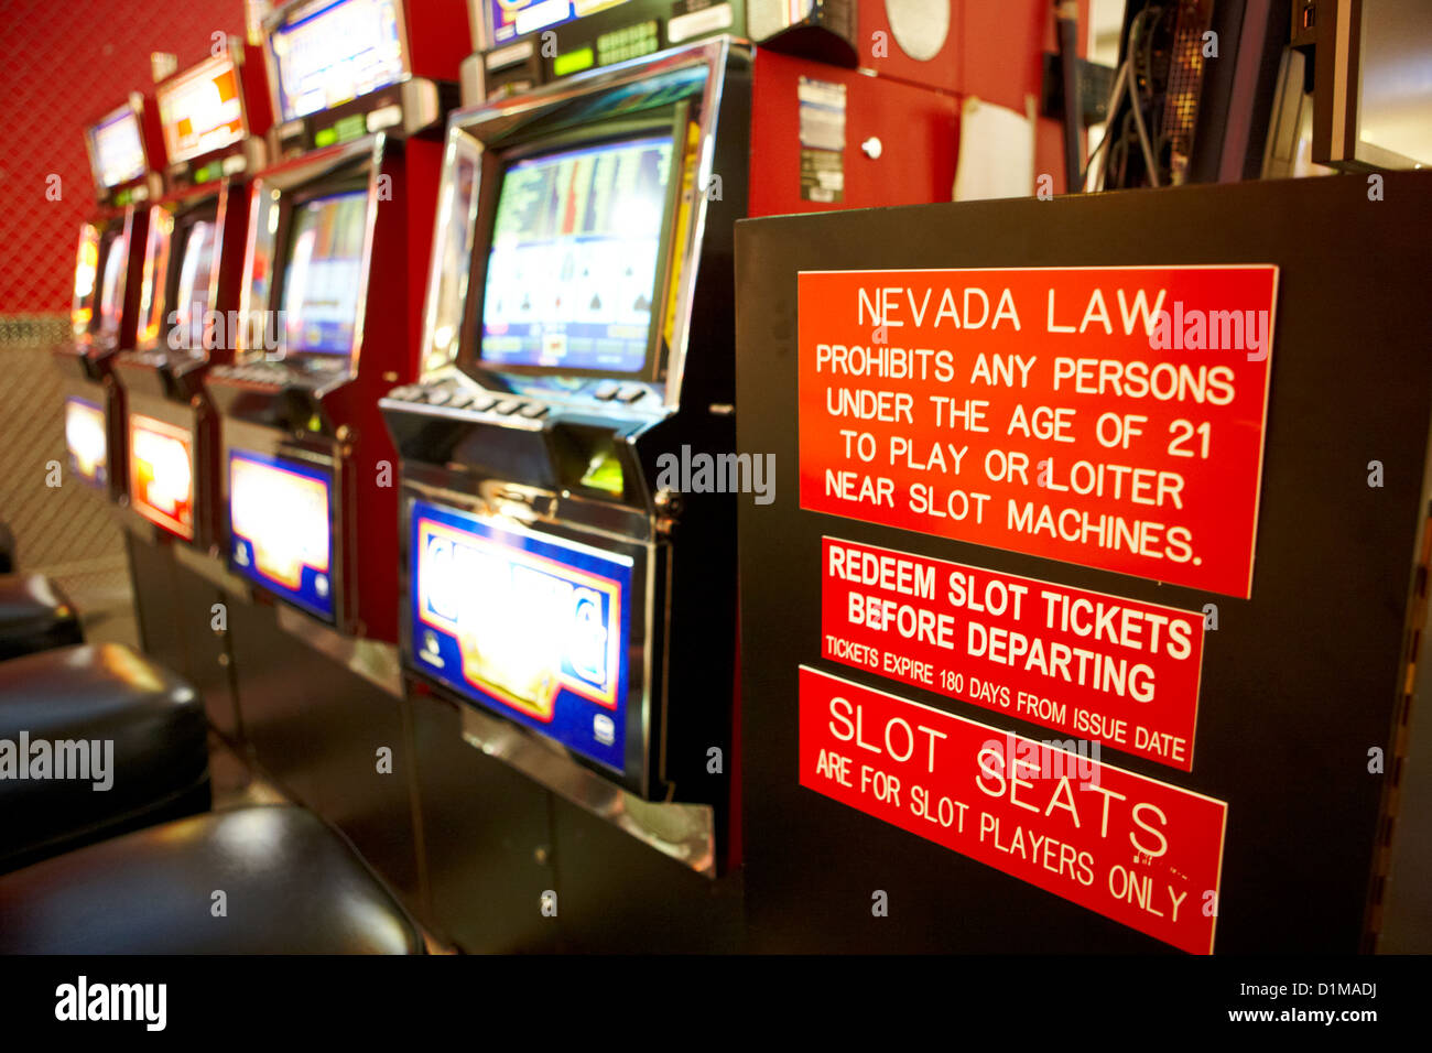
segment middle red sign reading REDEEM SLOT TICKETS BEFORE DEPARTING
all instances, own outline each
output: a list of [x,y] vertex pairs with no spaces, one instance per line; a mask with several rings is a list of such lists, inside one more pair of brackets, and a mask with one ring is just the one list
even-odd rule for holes
[[823,539],[821,655],[1193,771],[1203,616]]

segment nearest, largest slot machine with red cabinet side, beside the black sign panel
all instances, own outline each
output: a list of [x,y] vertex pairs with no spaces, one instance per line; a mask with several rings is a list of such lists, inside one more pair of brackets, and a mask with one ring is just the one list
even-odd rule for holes
[[739,4],[541,4],[576,19],[546,53],[507,7],[448,123],[422,378],[382,401],[402,662],[632,795],[709,804],[729,865],[733,491],[765,467],[735,448],[735,222],[948,198],[957,100],[828,62],[853,64],[855,21],[819,24],[851,7],[775,50],[730,36]]

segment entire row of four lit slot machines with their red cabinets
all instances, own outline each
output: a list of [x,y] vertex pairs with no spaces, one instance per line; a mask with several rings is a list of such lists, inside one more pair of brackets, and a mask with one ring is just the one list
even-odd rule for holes
[[735,223],[948,199],[952,7],[279,6],[86,132],[74,471],[410,683],[729,809]]

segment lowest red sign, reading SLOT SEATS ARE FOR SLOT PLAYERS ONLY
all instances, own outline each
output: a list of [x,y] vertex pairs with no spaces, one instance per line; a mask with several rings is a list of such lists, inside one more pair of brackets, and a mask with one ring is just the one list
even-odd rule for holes
[[800,785],[1194,954],[1227,804],[800,668]]

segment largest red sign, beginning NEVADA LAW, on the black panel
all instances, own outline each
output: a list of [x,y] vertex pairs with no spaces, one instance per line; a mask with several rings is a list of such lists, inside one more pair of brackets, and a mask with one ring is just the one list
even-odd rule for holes
[[1276,266],[799,282],[802,509],[1250,595]]

